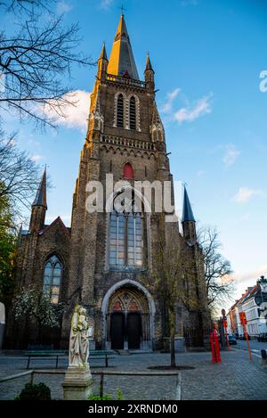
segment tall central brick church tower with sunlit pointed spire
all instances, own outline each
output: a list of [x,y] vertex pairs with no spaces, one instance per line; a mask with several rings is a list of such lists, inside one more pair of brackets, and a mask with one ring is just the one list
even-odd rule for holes
[[[144,80],[140,79],[122,14],[109,59],[102,46],[91,94],[73,196],[70,303],[62,324],[62,346],[68,345],[70,315],[77,302],[87,307],[95,348],[154,349],[162,347],[167,336],[164,307],[150,291],[146,275],[153,267],[158,234],[167,237],[169,228],[176,228],[182,239],[178,223],[162,221],[155,210],[156,201],[150,211],[144,211],[144,202],[135,201],[132,192],[123,202],[127,210],[117,209],[123,187],[109,190],[106,182],[107,175],[113,176],[113,184],[127,182],[131,187],[136,181],[173,182],[154,77],[148,56]],[[86,209],[92,192],[88,184],[92,182],[101,184],[102,210]],[[187,241],[185,225],[189,220],[183,221]],[[188,238],[193,238],[191,233]]]

